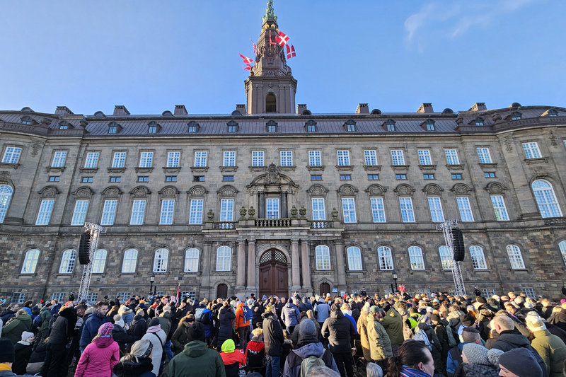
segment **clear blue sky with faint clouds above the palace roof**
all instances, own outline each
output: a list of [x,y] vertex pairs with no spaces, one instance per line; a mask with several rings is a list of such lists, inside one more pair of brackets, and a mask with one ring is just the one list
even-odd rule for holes
[[[265,1],[0,1],[0,110],[229,113]],[[566,1],[275,0],[316,112],[566,107]]]

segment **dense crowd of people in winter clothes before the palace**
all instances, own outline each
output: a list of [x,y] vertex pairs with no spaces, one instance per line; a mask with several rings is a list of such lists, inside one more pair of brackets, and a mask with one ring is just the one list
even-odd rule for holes
[[475,295],[13,303],[0,377],[566,376],[565,299]]

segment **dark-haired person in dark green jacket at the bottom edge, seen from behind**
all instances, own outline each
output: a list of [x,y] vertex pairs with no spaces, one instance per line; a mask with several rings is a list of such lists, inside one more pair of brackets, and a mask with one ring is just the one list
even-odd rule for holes
[[173,357],[164,377],[226,377],[220,354],[204,342],[204,325],[195,322],[189,327],[190,342],[183,352]]

